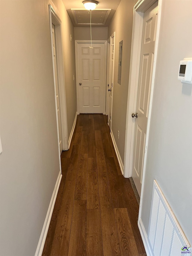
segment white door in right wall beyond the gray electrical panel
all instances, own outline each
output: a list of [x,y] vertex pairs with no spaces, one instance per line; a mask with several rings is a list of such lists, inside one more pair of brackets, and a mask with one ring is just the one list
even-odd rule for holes
[[108,125],[111,130],[112,123],[112,110],[113,110],[113,79],[114,79],[114,53],[115,53],[115,33],[111,36],[110,40],[110,81],[109,81],[109,114]]

